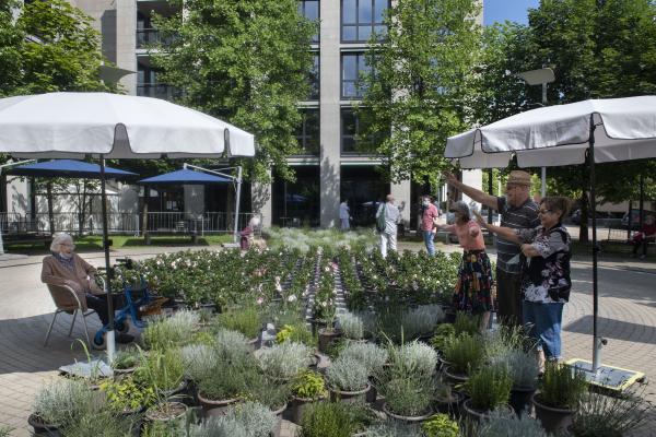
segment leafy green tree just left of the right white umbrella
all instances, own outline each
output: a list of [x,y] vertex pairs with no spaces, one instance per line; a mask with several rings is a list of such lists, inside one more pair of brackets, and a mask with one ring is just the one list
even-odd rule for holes
[[478,13],[475,0],[399,1],[388,10],[387,37],[372,37],[361,138],[388,161],[393,180],[435,184],[446,139],[468,127],[464,102],[479,51]]

